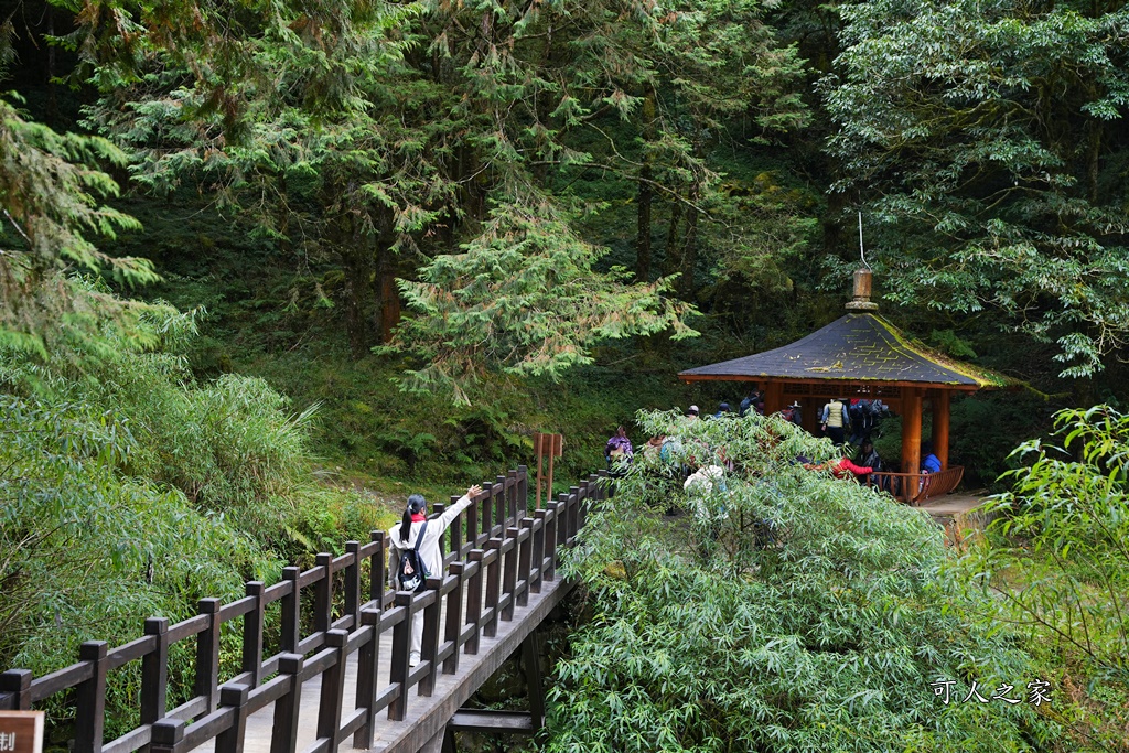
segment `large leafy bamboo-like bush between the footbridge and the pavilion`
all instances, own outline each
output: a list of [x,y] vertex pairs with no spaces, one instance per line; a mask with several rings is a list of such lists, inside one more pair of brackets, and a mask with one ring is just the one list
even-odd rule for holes
[[925,516],[794,464],[833,448],[778,419],[640,421],[679,438],[673,463],[736,470],[688,497],[642,457],[589,516],[571,562],[595,618],[558,667],[548,750],[1047,750],[1057,729],[1032,707],[935,697],[938,678],[959,700],[1033,677],[971,624],[982,604],[949,587]]

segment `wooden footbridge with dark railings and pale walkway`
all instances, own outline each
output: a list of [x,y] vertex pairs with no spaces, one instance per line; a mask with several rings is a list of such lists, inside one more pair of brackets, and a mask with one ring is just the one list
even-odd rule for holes
[[[123,646],[88,641],[79,662],[58,672],[9,669],[0,674],[0,709],[73,699],[73,753],[338,753],[350,743],[431,751],[460,707],[532,645],[526,639],[568,593],[557,577],[560,557],[588,506],[606,494],[593,475],[531,510],[527,481],[520,466],[484,484],[444,536],[444,577],[423,592],[387,589],[388,546],[374,532],[368,543],[347,542],[340,557],[318,554],[308,570],[286,568],[272,586],[248,583],[235,602],[202,599],[183,622],[150,618],[145,634]],[[272,656],[264,651],[269,608],[280,618]],[[409,667],[414,620],[423,621],[422,660]],[[221,632],[231,628],[240,628],[243,643],[235,672],[220,663]],[[195,682],[192,697],[169,709],[169,651],[181,641],[195,645]],[[107,680],[133,662],[141,665],[141,724],[106,742]]]

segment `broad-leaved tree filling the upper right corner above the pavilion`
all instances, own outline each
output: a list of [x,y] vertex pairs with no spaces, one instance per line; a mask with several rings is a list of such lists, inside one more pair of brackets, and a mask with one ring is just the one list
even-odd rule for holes
[[863,191],[887,297],[1003,313],[1088,376],[1129,332],[1123,6],[873,0],[840,8],[840,191]]

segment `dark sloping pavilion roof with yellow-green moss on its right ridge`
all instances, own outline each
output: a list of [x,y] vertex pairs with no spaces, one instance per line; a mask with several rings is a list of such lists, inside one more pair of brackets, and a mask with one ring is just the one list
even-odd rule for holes
[[908,383],[954,389],[1006,387],[994,371],[955,361],[912,341],[884,318],[851,313],[803,340],[754,356],[700,366],[679,374],[701,379],[839,380]]

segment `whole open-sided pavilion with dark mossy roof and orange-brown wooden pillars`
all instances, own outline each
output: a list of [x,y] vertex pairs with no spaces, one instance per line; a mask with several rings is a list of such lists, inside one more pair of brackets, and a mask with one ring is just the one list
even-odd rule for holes
[[[764,412],[791,402],[802,406],[804,428],[815,432],[817,413],[830,397],[881,399],[902,417],[902,473],[879,480],[905,501],[951,491],[964,469],[949,467],[948,406],[954,392],[1014,386],[1007,377],[981,369],[910,340],[878,316],[870,301],[869,270],[855,272],[855,299],[847,315],[796,342],[763,353],[700,366],[679,374],[683,382],[751,382],[764,393]],[[920,465],[922,405],[933,413],[933,452],[942,473],[924,479]]]

